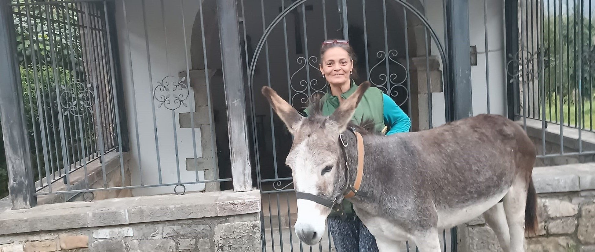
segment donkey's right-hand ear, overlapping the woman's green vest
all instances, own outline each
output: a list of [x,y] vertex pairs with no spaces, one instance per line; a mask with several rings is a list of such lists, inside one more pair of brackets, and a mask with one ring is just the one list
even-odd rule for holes
[[370,87],[370,82],[366,81],[359,85],[358,89],[353,92],[341,105],[328,117],[330,122],[336,125],[339,132],[347,129],[347,124],[350,122],[355,108],[358,107],[359,101],[362,100],[364,93]]

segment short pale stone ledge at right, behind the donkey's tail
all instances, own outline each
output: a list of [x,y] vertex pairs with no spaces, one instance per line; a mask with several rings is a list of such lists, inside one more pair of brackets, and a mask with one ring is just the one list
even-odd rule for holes
[[537,193],[595,190],[595,163],[536,167],[533,183]]

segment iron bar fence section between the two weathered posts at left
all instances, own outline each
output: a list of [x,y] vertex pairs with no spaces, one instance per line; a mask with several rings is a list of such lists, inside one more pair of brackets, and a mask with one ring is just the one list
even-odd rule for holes
[[[229,157],[217,152],[210,90],[221,56],[205,37],[217,20],[203,18],[200,3],[10,6],[37,196],[86,193],[92,200],[98,190],[229,187],[230,172],[221,178],[218,169],[218,156]],[[203,53],[192,58],[191,51]]]

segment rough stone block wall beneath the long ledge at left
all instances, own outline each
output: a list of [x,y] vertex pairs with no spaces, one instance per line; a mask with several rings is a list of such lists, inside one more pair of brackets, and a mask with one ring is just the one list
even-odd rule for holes
[[260,251],[258,213],[2,235],[0,252]]

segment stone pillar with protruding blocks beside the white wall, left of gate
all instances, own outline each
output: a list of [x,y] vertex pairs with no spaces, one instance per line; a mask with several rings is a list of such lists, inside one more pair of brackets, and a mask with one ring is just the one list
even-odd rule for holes
[[[214,180],[217,178],[218,163],[217,163],[217,146],[215,145],[214,127],[211,125],[209,119],[209,111],[212,113],[212,108],[209,107],[208,92],[206,89],[205,74],[208,73],[209,80],[215,74],[215,70],[205,71],[190,70],[190,87],[194,92],[194,127],[201,129],[201,149],[202,153],[198,154],[199,158],[187,157],[186,170],[187,171],[203,171],[205,173],[205,180]],[[185,78],[186,71],[180,72],[180,79]],[[210,81],[209,81],[210,82]],[[184,81],[187,84],[187,81]],[[190,113],[180,113],[180,127],[192,128],[192,121],[190,121]],[[213,192],[220,190],[219,183],[206,183],[205,191]]]

